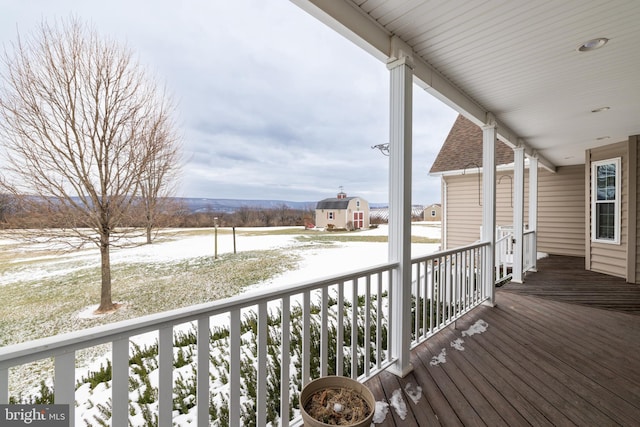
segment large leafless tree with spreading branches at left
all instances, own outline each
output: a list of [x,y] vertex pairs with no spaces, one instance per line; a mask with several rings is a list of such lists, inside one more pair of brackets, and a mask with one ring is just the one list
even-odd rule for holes
[[141,178],[157,160],[147,144],[149,125],[169,125],[162,119],[169,103],[128,49],[76,19],[45,22],[11,47],[0,77],[8,184],[69,226],[43,235],[68,243],[71,233],[77,246],[100,249],[96,311],[115,310],[110,248],[130,237],[119,227],[131,220]]

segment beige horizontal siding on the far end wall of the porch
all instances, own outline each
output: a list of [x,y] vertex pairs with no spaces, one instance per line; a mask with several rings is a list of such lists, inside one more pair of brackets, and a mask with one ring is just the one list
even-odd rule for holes
[[538,251],[585,255],[584,166],[538,171]]

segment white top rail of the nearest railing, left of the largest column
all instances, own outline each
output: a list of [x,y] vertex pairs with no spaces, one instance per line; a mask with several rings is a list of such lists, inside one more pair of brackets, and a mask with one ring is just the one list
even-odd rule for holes
[[67,332],[0,348],[0,369],[20,365],[45,357],[52,357],[82,348],[125,339],[164,327],[179,325],[202,316],[215,316],[233,310],[254,306],[262,302],[281,299],[285,296],[321,289],[336,283],[388,271],[398,266],[397,262],[385,263],[363,270],[337,276],[313,279],[295,285],[281,285],[269,291],[255,290],[222,300],[211,301],[108,325],[96,326],[80,331]]

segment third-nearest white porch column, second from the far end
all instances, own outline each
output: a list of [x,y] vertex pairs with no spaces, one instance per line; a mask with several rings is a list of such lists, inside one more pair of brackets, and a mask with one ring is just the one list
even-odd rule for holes
[[513,265],[511,281],[522,283],[524,256],[524,147],[513,149]]

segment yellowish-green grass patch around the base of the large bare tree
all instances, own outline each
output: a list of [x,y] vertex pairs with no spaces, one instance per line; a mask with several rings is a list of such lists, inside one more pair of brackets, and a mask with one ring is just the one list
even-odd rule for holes
[[100,268],[1,286],[0,346],[226,298],[296,266],[299,256],[277,250],[241,252],[179,262],[112,266],[111,315],[78,319],[100,299]]

